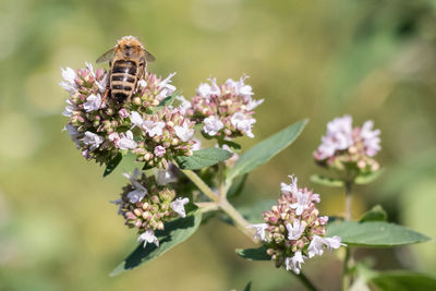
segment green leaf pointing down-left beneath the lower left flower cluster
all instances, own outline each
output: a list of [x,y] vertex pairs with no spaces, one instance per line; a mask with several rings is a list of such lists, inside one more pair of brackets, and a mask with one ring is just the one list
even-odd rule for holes
[[164,253],[168,252],[179,243],[187,240],[197,230],[202,222],[202,213],[194,204],[185,205],[186,217],[178,218],[165,223],[165,230],[156,231],[159,240],[159,247],[153,243],[147,243],[146,247],[140,244],[120,265],[118,265],[110,276],[117,276],[126,270],[148,263]]

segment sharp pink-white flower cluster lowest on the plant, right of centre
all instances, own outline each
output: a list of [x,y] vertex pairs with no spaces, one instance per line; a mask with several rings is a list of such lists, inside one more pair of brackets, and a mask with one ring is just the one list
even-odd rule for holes
[[265,222],[251,227],[276,267],[284,265],[287,270],[300,274],[301,264],[307,257],[323,255],[326,247],[331,251],[344,244],[339,237],[325,238],[328,217],[318,216],[319,194],[299,189],[296,178],[290,178],[291,184],[281,183],[277,205],[264,213]]

